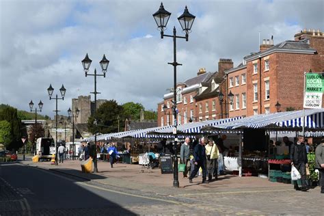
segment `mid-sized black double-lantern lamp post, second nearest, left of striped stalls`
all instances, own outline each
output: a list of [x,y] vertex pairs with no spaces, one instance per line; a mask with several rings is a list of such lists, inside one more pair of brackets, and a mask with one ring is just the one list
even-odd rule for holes
[[81,61],[83,65],[83,70],[85,72],[85,77],[89,76],[94,76],[94,92],[90,92],[91,94],[94,94],[94,172],[98,172],[98,167],[97,167],[97,133],[96,133],[96,109],[97,109],[97,94],[100,94],[100,92],[97,92],[97,77],[106,77],[106,72],[109,64],[109,60],[106,59],[105,54],[103,55],[103,59],[101,59],[100,66],[101,69],[103,70],[103,75],[97,75],[97,70],[94,68],[94,74],[88,74],[87,72],[89,71],[90,65],[92,60],[85,55],[85,58]]

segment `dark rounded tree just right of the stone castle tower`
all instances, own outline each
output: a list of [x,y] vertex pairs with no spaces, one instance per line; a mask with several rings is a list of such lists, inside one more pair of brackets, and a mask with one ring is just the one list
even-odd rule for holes
[[[97,126],[94,126],[95,118],[91,116],[87,121],[87,129],[91,133],[116,133],[118,132],[118,116],[120,120],[124,118],[122,106],[118,105],[116,100],[108,100],[96,111]],[[122,128],[123,122],[120,123],[120,128]]]

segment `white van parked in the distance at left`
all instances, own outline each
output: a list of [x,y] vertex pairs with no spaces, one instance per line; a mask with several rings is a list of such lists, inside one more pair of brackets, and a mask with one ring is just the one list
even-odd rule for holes
[[51,160],[52,154],[55,154],[55,143],[53,138],[38,138],[36,141],[36,152],[40,156],[39,161]]

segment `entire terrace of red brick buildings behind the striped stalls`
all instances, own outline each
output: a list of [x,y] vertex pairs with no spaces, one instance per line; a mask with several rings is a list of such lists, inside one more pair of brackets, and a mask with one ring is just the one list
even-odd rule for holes
[[[310,70],[324,72],[323,32],[304,29],[295,34],[295,40],[275,45],[272,38],[263,40],[260,51],[245,56],[236,68],[231,59],[219,59],[218,72],[200,69],[197,77],[178,83],[178,124],[190,118],[202,121],[273,113],[277,102],[280,111],[303,109],[303,75]],[[219,92],[224,94],[222,109]],[[163,99],[158,105],[158,126],[173,124],[173,93]]]

